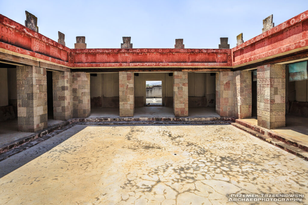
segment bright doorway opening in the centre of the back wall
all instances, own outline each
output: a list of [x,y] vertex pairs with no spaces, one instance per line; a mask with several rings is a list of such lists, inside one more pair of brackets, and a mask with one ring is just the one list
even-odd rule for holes
[[162,82],[146,81],[145,96],[147,106],[162,106]]

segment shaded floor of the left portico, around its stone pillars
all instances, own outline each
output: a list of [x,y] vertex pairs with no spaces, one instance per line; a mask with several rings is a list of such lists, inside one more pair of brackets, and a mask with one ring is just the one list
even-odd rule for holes
[[[52,126],[52,125],[55,125],[61,122],[63,121],[48,119],[47,124],[48,126]],[[12,142],[14,140],[18,140],[20,138],[29,136],[31,134],[34,134],[34,132],[19,132],[18,131],[17,119],[0,122],[0,145],[8,143],[8,142]]]

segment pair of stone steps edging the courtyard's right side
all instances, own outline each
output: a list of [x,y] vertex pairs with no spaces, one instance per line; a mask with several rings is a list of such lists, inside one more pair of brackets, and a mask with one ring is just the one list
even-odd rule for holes
[[261,140],[264,140],[270,144],[273,144],[276,147],[279,147],[291,154],[294,154],[302,158],[303,160],[308,161],[308,152],[306,151],[306,148],[301,149],[302,148],[301,146],[296,146],[297,144],[296,142],[285,139],[278,133],[274,133],[260,126],[244,122],[240,119],[237,119],[235,123],[233,122],[231,124],[236,128],[239,128],[245,132],[248,132],[249,134]]

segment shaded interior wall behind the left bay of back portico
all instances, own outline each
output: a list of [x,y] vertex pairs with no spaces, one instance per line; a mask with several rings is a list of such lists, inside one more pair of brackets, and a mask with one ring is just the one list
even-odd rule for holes
[[119,73],[90,76],[91,107],[119,107]]

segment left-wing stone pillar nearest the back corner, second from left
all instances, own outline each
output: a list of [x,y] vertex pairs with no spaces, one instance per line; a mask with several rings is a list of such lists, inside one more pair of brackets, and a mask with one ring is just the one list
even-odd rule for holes
[[73,117],[72,73],[59,71],[52,73],[54,99],[54,120],[68,120]]

